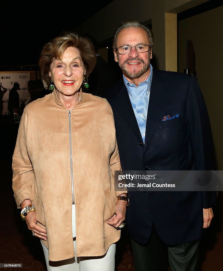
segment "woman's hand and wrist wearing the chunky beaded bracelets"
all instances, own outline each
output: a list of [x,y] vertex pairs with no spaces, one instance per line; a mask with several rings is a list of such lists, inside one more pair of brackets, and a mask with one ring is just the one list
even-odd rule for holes
[[[25,208],[27,205],[31,205],[31,204],[32,204],[32,202],[29,199],[26,199],[25,201],[23,201],[20,204],[21,210],[23,208]],[[35,236],[39,237],[40,239],[47,240],[46,230],[36,224],[37,220],[36,220],[36,212],[35,211],[29,212],[25,216],[25,221],[28,226],[28,229],[31,230]]]

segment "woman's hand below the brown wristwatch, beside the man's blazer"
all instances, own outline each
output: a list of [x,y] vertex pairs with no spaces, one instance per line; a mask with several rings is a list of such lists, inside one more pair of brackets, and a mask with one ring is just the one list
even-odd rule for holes
[[126,218],[126,206],[127,201],[117,201],[115,205],[116,212],[114,213],[113,217],[106,221],[106,223],[118,228]]

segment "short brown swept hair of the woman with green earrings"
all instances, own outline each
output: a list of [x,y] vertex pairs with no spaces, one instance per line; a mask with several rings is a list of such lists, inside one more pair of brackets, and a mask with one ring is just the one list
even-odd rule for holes
[[86,68],[86,78],[90,75],[96,65],[96,51],[93,43],[87,37],[81,37],[77,33],[64,31],[60,36],[46,43],[40,54],[39,68],[43,79],[48,87],[50,85],[49,71],[53,59],[61,59],[68,47],[79,50],[81,59]]

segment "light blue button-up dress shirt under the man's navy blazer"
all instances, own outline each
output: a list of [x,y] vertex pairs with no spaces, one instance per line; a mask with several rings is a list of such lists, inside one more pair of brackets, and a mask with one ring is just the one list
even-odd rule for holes
[[129,83],[123,75],[123,80],[129,93],[129,98],[134,110],[138,127],[140,129],[143,142],[146,136],[146,118],[150,98],[150,88],[153,77],[153,67],[150,64],[150,75],[146,81],[141,82],[138,87],[133,83]]

